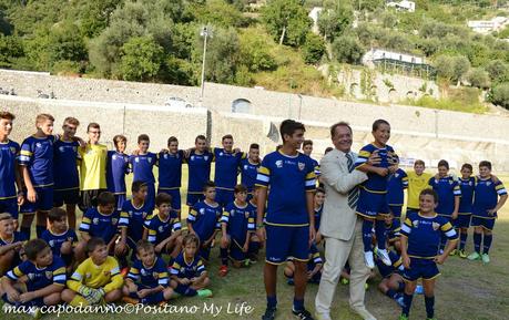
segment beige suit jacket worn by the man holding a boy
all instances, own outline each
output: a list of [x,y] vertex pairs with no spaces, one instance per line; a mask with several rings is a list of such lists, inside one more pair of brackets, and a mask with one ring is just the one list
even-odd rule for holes
[[[357,154],[350,152],[354,162]],[[348,163],[344,152],[334,148],[319,164],[325,185],[325,203],[319,231],[325,237],[349,240],[354,235],[356,214],[348,206],[348,192],[367,179],[367,175],[354,169],[348,173]]]

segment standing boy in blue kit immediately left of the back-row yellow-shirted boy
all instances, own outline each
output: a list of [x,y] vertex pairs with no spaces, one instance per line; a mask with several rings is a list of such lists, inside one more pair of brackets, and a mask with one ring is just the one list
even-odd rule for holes
[[79,125],[78,118],[65,117],[62,126],[63,134],[53,146],[53,207],[61,207],[65,204],[71,229],[77,227],[77,205],[80,202],[80,177],[78,175],[80,144],[74,138]]

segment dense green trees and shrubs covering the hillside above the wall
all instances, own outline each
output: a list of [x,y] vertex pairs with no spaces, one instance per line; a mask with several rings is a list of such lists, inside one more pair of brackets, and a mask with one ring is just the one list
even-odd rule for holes
[[[466,27],[509,16],[491,2],[416,0],[409,13],[384,0],[0,0],[0,66],[196,85],[208,25],[208,81],[337,96],[316,66],[359,64],[379,47],[424,55],[442,85],[488,90],[509,107],[509,29]],[[315,6],[320,35],[307,17]]]

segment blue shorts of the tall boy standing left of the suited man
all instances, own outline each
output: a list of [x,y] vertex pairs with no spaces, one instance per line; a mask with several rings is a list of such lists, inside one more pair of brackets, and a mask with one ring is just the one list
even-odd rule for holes
[[309,260],[309,227],[285,227],[266,225],[267,234],[265,261],[281,265],[288,257],[295,260]]

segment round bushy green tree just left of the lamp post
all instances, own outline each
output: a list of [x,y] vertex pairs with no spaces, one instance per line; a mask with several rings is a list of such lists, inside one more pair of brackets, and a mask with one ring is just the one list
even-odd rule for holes
[[161,68],[164,50],[152,37],[131,38],[121,49],[120,72],[123,80],[153,80]]

